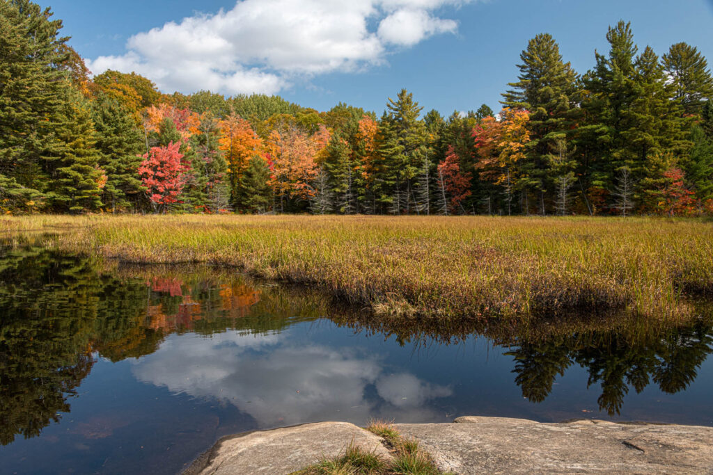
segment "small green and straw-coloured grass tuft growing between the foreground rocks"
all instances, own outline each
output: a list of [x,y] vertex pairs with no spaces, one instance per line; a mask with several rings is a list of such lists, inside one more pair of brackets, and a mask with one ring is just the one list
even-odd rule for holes
[[372,421],[366,430],[382,439],[392,459],[385,460],[350,444],[344,455],[324,459],[292,475],[438,475],[431,456],[413,439],[405,439],[396,428],[383,421]]

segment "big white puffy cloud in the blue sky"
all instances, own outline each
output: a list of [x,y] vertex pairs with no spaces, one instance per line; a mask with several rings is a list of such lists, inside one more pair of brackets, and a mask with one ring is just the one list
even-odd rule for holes
[[135,34],[121,56],[88,60],[95,74],[135,71],[165,91],[277,93],[298,77],[384,62],[394,46],[453,33],[444,7],[476,0],[241,0]]

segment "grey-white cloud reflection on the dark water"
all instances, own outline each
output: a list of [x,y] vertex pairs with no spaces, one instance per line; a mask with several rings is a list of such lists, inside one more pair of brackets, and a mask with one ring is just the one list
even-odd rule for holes
[[364,423],[371,416],[441,420],[428,402],[451,395],[450,388],[409,373],[386,373],[384,359],[364,349],[295,345],[289,331],[173,335],[133,362],[132,371],[142,382],[232,404],[259,427],[325,419]]

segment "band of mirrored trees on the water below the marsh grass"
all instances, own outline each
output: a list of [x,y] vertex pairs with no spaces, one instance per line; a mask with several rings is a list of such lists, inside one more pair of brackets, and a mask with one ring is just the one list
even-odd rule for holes
[[0,444],[58,422],[98,356],[118,362],[149,355],[171,333],[267,335],[325,315],[337,325],[395,335],[401,345],[483,335],[508,348],[515,383],[531,402],[543,402],[557,377],[580,365],[588,385],[601,386],[598,402],[609,414],[620,413],[630,387],[641,392],[653,382],[663,392],[684,390],[713,350],[709,320],[650,328],[574,319],[536,331],[513,321],[379,321],[309,289],[256,286],[227,270],[107,267],[29,247],[0,259]]

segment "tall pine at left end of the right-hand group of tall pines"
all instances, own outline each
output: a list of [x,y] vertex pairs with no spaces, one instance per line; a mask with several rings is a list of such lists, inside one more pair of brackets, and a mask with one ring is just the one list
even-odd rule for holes
[[518,82],[503,94],[503,105],[528,110],[530,142],[527,160],[520,163],[520,186],[540,194],[540,212],[545,214],[545,193],[550,186],[550,147],[563,134],[570,134],[578,116],[577,74],[563,62],[560,48],[547,33],[531,39],[520,54]]

